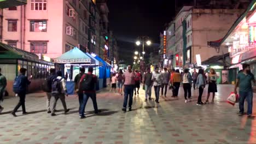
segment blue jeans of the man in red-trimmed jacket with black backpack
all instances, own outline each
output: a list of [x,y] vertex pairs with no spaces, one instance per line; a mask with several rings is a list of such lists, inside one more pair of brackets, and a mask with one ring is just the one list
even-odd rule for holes
[[97,106],[97,101],[96,101],[96,93],[95,92],[84,93],[83,104],[82,104],[82,106],[80,106],[80,109],[79,109],[79,115],[80,116],[84,116],[85,106],[86,106],[87,101],[88,101],[89,98],[91,98],[92,104],[94,104],[95,113],[98,112],[98,106]]

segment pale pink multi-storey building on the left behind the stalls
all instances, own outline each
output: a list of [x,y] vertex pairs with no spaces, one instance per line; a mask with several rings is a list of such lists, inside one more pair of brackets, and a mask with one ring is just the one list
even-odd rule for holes
[[90,0],[29,0],[4,9],[2,42],[51,58],[74,46],[86,50],[93,5]]

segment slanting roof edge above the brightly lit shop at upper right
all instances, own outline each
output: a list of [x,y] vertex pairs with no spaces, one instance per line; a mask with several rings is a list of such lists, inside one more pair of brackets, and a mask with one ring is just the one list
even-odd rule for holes
[[249,11],[252,11],[255,9],[255,3],[256,0],[253,0],[249,5],[246,11],[235,21],[235,23],[232,25],[232,27],[229,29],[228,33],[226,33],[225,37],[220,41],[220,45],[224,43],[224,41],[229,37],[229,35],[236,29],[236,27],[239,25],[239,23],[247,16]]

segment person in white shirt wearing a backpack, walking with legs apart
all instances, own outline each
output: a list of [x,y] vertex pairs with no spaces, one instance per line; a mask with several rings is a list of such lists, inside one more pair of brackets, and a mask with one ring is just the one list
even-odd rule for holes
[[59,99],[61,100],[61,103],[63,105],[65,114],[69,111],[69,109],[67,109],[67,105],[66,105],[66,101],[65,101],[65,93],[67,95],[66,82],[65,82],[65,79],[62,78],[61,71],[57,71],[57,78],[55,80],[60,81],[61,91],[59,91],[55,94],[54,93],[55,89],[54,88],[52,89],[52,94],[53,94],[53,97],[54,97],[54,105],[53,105],[53,110],[51,111],[51,116],[56,116],[55,109],[56,109],[57,100],[59,100]]

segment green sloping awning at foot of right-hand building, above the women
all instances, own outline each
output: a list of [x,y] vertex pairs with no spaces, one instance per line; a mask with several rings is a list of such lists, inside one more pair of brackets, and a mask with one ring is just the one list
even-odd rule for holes
[[225,63],[225,61],[220,61],[220,60],[223,60],[223,58],[225,57],[229,57],[229,53],[225,53],[224,55],[219,55],[219,56],[213,56],[213,57],[210,57],[208,58],[206,61],[203,61],[202,62],[202,65],[227,65]]

